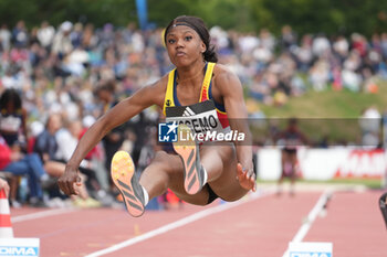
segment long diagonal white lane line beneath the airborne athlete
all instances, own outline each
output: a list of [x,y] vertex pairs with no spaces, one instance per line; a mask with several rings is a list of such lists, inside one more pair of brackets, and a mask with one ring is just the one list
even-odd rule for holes
[[251,201],[253,201],[255,199],[263,197],[263,196],[270,195],[273,192],[264,192],[264,193],[257,192],[257,193],[250,194],[250,197],[247,201],[240,200],[238,202],[224,203],[224,204],[221,204],[221,205],[217,205],[215,207],[206,208],[203,211],[200,211],[200,212],[194,213],[194,214],[191,214],[191,215],[189,215],[187,217],[184,217],[184,218],[181,218],[179,221],[169,223],[169,224],[164,225],[164,226],[161,226],[159,228],[156,228],[154,231],[147,232],[147,233],[145,233],[143,235],[139,235],[137,237],[124,240],[124,242],[122,242],[119,244],[116,244],[116,245],[113,245],[113,246],[111,246],[108,248],[94,251],[94,253],[92,253],[90,255],[86,255],[86,257],[97,257],[97,256],[103,256],[103,255],[106,255],[106,254],[119,250],[119,249],[125,248],[127,246],[137,244],[139,242],[149,239],[149,238],[155,237],[157,235],[170,232],[170,231],[172,231],[175,228],[185,226],[185,225],[190,224],[192,222],[196,222],[196,221],[198,221],[200,218],[210,216],[210,215],[216,214],[216,213],[223,212],[223,211],[232,208],[232,207],[237,207],[237,206],[239,206],[239,205],[241,205],[243,203],[251,202]]

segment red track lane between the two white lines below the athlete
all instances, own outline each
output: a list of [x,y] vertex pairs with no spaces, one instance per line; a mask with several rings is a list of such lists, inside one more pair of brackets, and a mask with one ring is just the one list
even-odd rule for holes
[[258,199],[106,256],[282,256],[318,195]]

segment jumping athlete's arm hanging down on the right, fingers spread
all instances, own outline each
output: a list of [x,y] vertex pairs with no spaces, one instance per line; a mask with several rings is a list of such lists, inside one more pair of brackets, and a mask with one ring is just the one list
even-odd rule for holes
[[242,188],[255,191],[255,173],[252,163],[252,140],[248,124],[248,110],[243,99],[242,85],[237,75],[224,71],[216,77],[217,87],[220,88],[227,116],[232,130],[243,132],[245,140],[236,141],[238,167],[237,178]]

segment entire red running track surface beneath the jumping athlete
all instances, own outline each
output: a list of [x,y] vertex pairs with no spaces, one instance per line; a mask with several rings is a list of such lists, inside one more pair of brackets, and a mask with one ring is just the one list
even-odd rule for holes
[[[320,195],[321,192],[302,192],[294,197],[286,194],[250,197],[213,214],[211,212],[219,208],[219,202],[206,207],[185,205],[184,210],[147,211],[139,218],[130,217],[123,210],[108,208],[74,210],[29,221],[21,218],[28,213],[36,213],[36,210],[11,210],[11,214],[17,221],[13,222],[14,235],[39,237],[42,257],[86,256],[138,235],[147,235],[203,210],[209,214],[202,218],[104,256],[281,257]],[[334,256],[385,256],[386,247],[375,247],[387,242],[375,199],[377,193],[373,192],[335,193],[327,216],[312,224],[305,240],[333,242]],[[359,211],[362,207],[364,211]],[[346,210],[356,211],[357,214],[346,218]],[[348,227],[356,228],[351,231]],[[362,235],[354,237],[356,229],[360,229]],[[357,244],[357,248],[353,247],[354,244]],[[354,255],[353,248],[360,254]],[[368,251],[364,251],[366,249]]]

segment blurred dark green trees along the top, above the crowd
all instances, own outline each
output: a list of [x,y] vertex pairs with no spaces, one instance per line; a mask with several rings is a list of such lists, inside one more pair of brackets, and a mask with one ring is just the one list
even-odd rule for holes
[[[148,21],[165,26],[180,14],[201,17],[209,26],[254,32],[266,28],[279,34],[290,24],[301,34],[327,35],[358,32],[366,36],[387,28],[387,1],[364,0],[148,0]],[[135,0],[1,0],[0,23],[13,26],[18,20],[30,26],[42,20],[57,25],[64,20],[107,22],[125,26],[137,23]]]

